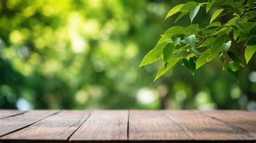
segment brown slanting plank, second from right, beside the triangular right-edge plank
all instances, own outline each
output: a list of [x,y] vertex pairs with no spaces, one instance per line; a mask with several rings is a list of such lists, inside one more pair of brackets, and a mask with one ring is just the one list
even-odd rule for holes
[[208,117],[201,111],[166,111],[165,113],[193,140],[256,140],[251,133]]

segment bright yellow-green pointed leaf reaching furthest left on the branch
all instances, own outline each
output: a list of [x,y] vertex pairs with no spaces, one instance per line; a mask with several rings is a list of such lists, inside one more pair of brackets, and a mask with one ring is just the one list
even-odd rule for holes
[[162,51],[164,49],[164,46],[166,45],[166,42],[163,42],[161,44],[158,44],[154,49],[149,51],[146,56],[143,58],[142,63],[140,63],[139,67],[151,64],[153,62],[156,62],[161,58]]

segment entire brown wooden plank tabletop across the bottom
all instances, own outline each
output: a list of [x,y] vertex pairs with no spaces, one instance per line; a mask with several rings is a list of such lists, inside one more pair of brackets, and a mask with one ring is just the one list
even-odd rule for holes
[[0,142],[253,142],[256,111],[0,110]]

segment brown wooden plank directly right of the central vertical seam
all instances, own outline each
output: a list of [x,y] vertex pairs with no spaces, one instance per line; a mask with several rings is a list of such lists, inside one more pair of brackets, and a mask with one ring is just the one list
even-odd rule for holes
[[129,140],[191,140],[179,124],[171,120],[166,111],[131,110]]

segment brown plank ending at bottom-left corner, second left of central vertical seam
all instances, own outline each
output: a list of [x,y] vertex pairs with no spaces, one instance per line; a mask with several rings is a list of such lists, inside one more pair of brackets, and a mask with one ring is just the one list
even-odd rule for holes
[[89,117],[87,111],[60,111],[0,140],[9,142],[66,142]]

